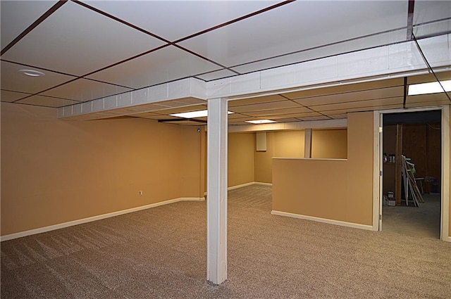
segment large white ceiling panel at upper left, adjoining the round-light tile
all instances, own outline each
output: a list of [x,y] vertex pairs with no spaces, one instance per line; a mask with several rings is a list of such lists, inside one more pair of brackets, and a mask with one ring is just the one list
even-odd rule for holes
[[162,44],[159,39],[68,1],[2,58],[86,75]]

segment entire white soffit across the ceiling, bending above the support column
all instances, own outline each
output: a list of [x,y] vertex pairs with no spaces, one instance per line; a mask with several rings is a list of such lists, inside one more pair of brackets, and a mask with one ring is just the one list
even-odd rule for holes
[[[450,34],[421,39],[419,42],[426,52],[429,63],[436,70],[450,70]],[[408,59],[406,59],[406,57]],[[319,65],[315,70],[314,65]],[[426,64],[413,42],[381,46],[375,49],[322,58],[307,63],[262,70],[247,75],[237,75],[211,82],[199,79],[180,79],[175,82],[156,85],[147,89],[132,91],[123,95],[105,98],[104,110],[140,103],[177,100],[194,97],[202,101],[207,98],[239,99],[263,96],[288,91],[299,91],[319,87],[335,86],[357,82],[370,82],[377,79],[404,77],[427,73]],[[306,76],[307,74],[309,76]],[[129,95],[127,95],[129,94]],[[120,101],[121,98],[125,100]],[[137,98],[133,102],[132,98]],[[107,103],[109,103],[107,105]],[[89,107],[89,104],[83,103]],[[58,115],[66,117],[66,110]],[[72,109],[67,116],[77,113],[92,113],[92,110]]]

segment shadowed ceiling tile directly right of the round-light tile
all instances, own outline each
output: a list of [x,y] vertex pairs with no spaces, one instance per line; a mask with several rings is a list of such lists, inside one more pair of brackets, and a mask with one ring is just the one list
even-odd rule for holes
[[89,79],[77,79],[68,84],[45,91],[42,95],[67,98],[75,101],[90,101],[95,98],[103,98],[130,90],[131,89],[125,87],[118,87],[117,85],[106,84]]

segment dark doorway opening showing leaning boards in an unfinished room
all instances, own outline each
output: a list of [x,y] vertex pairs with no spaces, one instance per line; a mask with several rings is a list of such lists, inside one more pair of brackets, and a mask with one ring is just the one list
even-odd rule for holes
[[382,117],[383,231],[440,238],[441,110]]

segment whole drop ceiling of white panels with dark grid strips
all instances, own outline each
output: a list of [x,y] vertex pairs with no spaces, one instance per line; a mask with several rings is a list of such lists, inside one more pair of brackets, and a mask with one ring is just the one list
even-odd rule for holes
[[[410,4],[409,4],[410,3]],[[51,108],[176,80],[210,82],[451,32],[451,1],[1,1],[1,101]],[[409,18],[409,16],[411,18]],[[448,44],[451,44],[448,41]],[[448,49],[449,50],[449,49]],[[450,53],[442,53],[449,56]],[[437,70],[451,79],[448,68]],[[44,72],[27,77],[19,70]],[[426,69],[426,65],[425,65]],[[442,70],[446,70],[442,72]],[[309,74],[306,74],[307,76]],[[409,76],[407,84],[432,82]],[[448,104],[407,96],[404,78],[229,101],[231,125],[346,118],[354,111]],[[94,103],[94,102],[93,102]],[[92,104],[94,105],[94,104]],[[206,109],[183,98],[74,117],[171,121]],[[202,124],[206,117],[195,122]]]

